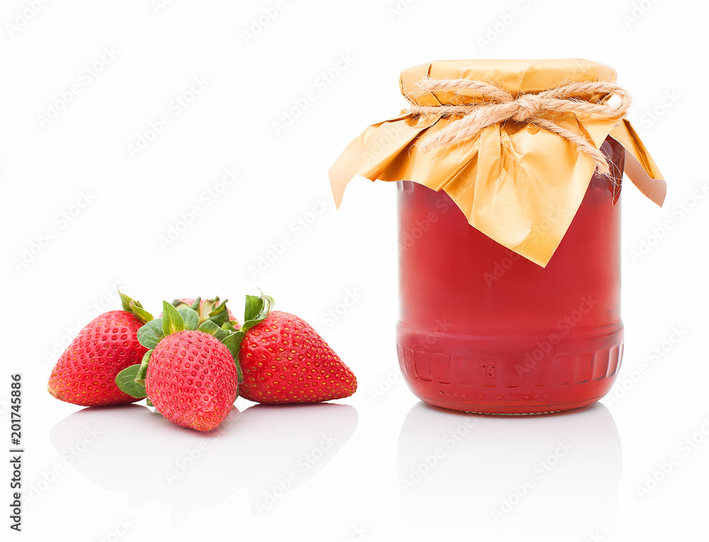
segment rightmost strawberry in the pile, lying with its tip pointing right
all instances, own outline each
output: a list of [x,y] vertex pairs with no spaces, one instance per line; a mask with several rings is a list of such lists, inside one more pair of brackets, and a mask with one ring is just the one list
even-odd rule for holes
[[318,332],[273,299],[247,296],[238,352],[241,397],[259,403],[316,403],[350,397],[357,379]]

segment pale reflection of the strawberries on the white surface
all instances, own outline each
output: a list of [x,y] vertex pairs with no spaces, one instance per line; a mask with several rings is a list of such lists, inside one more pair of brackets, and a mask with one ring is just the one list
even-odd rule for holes
[[[357,411],[343,404],[234,407],[208,432],[177,427],[145,406],[130,405],[75,412],[52,428],[50,440],[64,455],[87,431],[98,433],[71,467],[102,489],[127,494],[126,510],[143,511],[155,502],[179,526],[238,490],[250,495],[252,514],[286,504],[356,427]],[[284,494],[275,491],[271,502],[267,495],[293,472],[296,480]],[[246,514],[235,509],[234,521]]]

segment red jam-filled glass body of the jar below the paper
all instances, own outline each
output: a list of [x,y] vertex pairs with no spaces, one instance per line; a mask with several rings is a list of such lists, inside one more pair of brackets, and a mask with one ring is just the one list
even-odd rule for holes
[[[622,172],[623,147],[603,150]],[[398,183],[398,357],[420,399],[527,414],[608,392],[623,355],[613,182],[593,176],[545,268],[472,228],[445,192]]]

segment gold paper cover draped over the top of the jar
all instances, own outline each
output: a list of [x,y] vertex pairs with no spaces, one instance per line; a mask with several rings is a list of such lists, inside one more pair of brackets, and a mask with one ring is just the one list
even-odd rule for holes
[[[586,82],[601,92],[557,92]],[[408,68],[400,87],[411,108],[369,126],[340,155],[330,169],[335,202],[355,175],[418,182],[445,191],[471,226],[544,267],[596,171],[579,142],[600,149],[610,135],[627,150],[632,182],[655,203],[664,201],[666,184],[630,122],[586,111],[613,103],[603,86],[613,82],[613,68],[580,59],[443,60]],[[545,93],[549,99],[540,104]],[[496,122],[471,115],[488,116],[493,107]],[[466,123],[482,127],[427,148],[447,133],[464,133],[458,127]]]

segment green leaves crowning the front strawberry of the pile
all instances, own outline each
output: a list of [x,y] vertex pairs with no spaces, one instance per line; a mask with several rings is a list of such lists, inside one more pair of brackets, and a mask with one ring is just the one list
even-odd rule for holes
[[[118,388],[131,397],[145,397],[145,375],[147,375],[147,367],[150,364],[152,351],[155,350],[155,347],[162,339],[180,331],[201,331],[214,336],[220,343],[223,343],[231,353],[236,365],[238,382],[243,382],[244,377],[238,361],[239,346],[243,334],[228,321],[225,303],[222,302],[220,304],[223,309],[211,311],[218,311],[217,314],[221,314],[223,311],[225,314],[226,320],[222,326],[219,326],[213,319],[206,319],[200,322],[199,313],[192,306],[181,306],[177,309],[167,301],[162,302],[162,317],[147,321],[145,326],[138,329],[138,342],[148,349],[143,356],[143,361],[125,368],[116,375]],[[196,300],[195,304],[199,307],[199,299]],[[219,316],[219,318],[223,318],[223,316]]]

